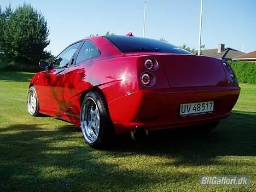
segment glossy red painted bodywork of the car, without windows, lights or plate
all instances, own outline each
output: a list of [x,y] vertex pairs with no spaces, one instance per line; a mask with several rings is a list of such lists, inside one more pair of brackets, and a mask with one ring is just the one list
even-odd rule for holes
[[[93,89],[106,97],[110,117],[118,134],[136,127],[148,130],[208,123],[231,113],[240,88],[230,82],[223,61],[211,57],[165,53],[122,54],[104,37],[89,38],[101,55],[62,69],[34,75],[30,86],[37,91],[39,112],[70,121],[80,127],[83,97]],[[78,48],[77,53],[80,48]],[[77,55],[75,53],[75,55]],[[140,82],[148,71],[144,60],[159,63],[152,88]],[[214,113],[179,117],[182,103],[214,101]]]

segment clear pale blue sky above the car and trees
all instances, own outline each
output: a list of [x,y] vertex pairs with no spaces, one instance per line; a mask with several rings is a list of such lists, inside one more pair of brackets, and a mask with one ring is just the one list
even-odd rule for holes
[[[67,45],[90,34],[132,32],[143,36],[143,0],[26,0],[40,10],[50,28],[50,45],[57,55]],[[1,0],[16,8],[24,0]],[[174,45],[197,49],[201,0],[148,0],[145,37],[165,38]],[[203,0],[202,44],[214,49],[225,47],[248,53],[256,50],[256,0]]]

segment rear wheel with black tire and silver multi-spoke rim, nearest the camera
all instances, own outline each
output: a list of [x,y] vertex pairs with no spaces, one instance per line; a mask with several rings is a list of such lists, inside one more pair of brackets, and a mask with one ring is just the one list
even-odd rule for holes
[[86,143],[92,148],[106,148],[114,129],[104,95],[90,91],[84,97],[80,112],[80,125]]

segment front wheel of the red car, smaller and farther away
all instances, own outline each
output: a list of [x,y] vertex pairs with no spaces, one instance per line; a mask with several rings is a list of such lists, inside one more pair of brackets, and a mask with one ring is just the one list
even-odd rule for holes
[[27,94],[27,110],[32,116],[39,116],[39,102],[37,98],[37,91],[34,86],[28,90]]

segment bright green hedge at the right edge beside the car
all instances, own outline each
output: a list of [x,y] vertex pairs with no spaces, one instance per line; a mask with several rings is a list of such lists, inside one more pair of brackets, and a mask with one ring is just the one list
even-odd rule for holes
[[239,83],[256,84],[256,62],[229,61]]

